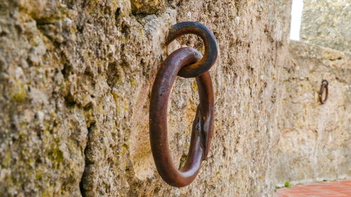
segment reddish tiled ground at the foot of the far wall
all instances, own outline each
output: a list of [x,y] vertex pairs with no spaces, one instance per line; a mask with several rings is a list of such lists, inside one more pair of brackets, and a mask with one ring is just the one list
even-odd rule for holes
[[278,189],[278,197],[351,197],[351,180],[296,185]]

